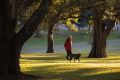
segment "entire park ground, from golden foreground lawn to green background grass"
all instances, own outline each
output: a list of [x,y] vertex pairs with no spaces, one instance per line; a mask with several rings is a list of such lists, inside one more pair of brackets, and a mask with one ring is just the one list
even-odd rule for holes
[[[73,52],[81,52],[80,62],[65,59],[63,43],[73,35]],[[22,72],[40,76],[43,80],[120,80],[120,31],[113,31],[107,42],[107,58],[87,58],[91,49],[90,33],[55,34],[55,53],[45,53],[47,39],[31,38],[22,49]]]

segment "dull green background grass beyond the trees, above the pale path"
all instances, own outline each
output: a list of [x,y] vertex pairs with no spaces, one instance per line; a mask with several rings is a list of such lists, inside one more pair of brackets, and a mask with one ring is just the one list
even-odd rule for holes
[[[91,31],[80,31],[80,32],[72,32],[72,31],[66,31],[62,30],[58,32],[57,34],[54,34],[54,45],[63,45],[65,42],[65,39],[68,37],[68,35],[73,36],[73,42],[75,43],[91,43],[92,42],[92,36]],[[120,39],[120,31],[113,31],[111,32],[108,40],[111,39]],[[42,47],[47,46],[47,34],[44,33],[42,38],[34,38],[31,37],[23,46],[23,49],[25,50],[31,50],[31,49],[39,49]]]

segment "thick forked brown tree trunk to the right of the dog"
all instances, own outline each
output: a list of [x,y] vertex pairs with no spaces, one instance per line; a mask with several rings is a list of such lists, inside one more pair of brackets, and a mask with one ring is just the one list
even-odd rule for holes
[[90,58],[104,58],[106,55],[107,38],[114,27],[115,21],[109,21],[110,26],[106,27],[106,23],[102,22],[99,14],[95,16],[95,26],[93,27],[93,44],[88,57]]

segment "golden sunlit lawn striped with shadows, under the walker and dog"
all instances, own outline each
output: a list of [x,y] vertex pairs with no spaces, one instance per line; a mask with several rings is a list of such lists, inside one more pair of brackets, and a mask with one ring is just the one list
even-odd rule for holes
[[109,53],[108,58],[86,58],[69,62],[63,53],[22,54],[24,73],[42,76],[44,80],[120,80],[120,53]]

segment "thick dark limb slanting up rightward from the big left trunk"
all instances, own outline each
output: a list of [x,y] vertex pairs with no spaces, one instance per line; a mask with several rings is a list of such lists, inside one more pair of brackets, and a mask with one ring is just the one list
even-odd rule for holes
[[28,40],[45,17],[52,0],[42,0],[39,8],[32,14],[30,19],[24,24],[22,29],[16,34],[16,38],[23,44]]

